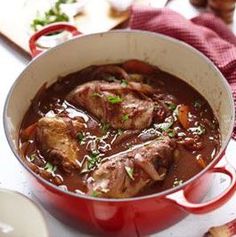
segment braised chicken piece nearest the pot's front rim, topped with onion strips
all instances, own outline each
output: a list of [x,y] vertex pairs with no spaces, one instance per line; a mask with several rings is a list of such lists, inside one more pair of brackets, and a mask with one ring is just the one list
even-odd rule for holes
[[144,187],[165,178],[172,163],[175,142],[168,137],[108,157],[88,179],[89,194],[99,197],[133,197]]

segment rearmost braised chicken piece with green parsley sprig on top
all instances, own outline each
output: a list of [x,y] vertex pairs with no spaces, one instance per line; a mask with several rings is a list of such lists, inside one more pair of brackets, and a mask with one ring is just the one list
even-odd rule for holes
[[156,89],[137,82],[91,81],[78,86],[67,99],[84,107],[113,128],[143,129],[152,123]]

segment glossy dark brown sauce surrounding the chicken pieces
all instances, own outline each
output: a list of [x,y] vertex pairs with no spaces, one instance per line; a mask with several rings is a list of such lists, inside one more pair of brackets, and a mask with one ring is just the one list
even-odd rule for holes
[[[83,108],[75,108],[66,101],[65,97],[72,89],[79,84],[91,80],[90,72],[92,70],[94,70],[94,66],[72,73],[64,78],[59,78],[59,80],[49,88],[43,88],[36,98],[34,98],[31,107],[25,114],[21,125],[21,131],[46,115],[61,115],[64,113],[71,118],[76,116],[82,117],[87,121],[87,128],[83,130],[83,133],[86,134],[86,139],[80,145],[80,161],[88,154],[89,146],[97,146],[100,150],[104,151],[102,156],[107,157],[143,143],[143,138],[145,140],[145,131],[147,129],[137,131],[134,134],[129,134],[128,131],[122,131],[121,133],[121,131],[106,127],[106,124],[102,124],[101,121],[88,114]],[[208,164],[220,149],[218,123],[207,101],[195,89],[175,76],[163,71],[158,71],[155,75],[150,77],[147,76],[146,81],[153,87],[161,88],[163,93],[174,96],[177,100],[176,104],[185,104],[189,106],[190,113],[191,115],[194,115],[194,119],[196,121],[201,121],[201,124],[204,125],[205,133],[201,135],[203,148],[200,151],[190,151],[183,145],[178,144],[176,158],[169,169],[165,180],[146,188],[142,193],[139,193],[139,195],[160,192],[182,184],[203,169],[197,162],[199,154],[201,154],[205,164]],[[196,102],[200,103],[199,109],[196,109],[196,106],[198,106],[196,105]],[[185,132],[181,126],[174,126],[178,127],[176,129],[178,130],[179,135]],[[124,136],[124,134],[128,135],[121,139],[121,136]],[[38,167],[44,167],[47,159],[46,157],[43,157],[40,150],[38,150],[37,141],[35,140],[34,135],[27,138],[21,135],[19,147],[23,153],[23,159],[25,159],[28,164],[33,163]],[[30,161],[31,155],[34,153],[37,154],[38,159]],[[63,185],[66,186],[69,191],[86,191],[86,187],[78,171],[74,171],[71,175],[66,175],[60,169],[57,169],[55,173],[63,178]],[[47,177],[44,178],[47,179]]]

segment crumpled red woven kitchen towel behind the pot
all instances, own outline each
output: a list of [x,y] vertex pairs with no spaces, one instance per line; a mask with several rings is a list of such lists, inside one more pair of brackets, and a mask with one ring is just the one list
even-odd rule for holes
[[[166,8],[133,6],[129,26],[182,40],[204,53],[228,80],[236,106],[236,37],[221,19],[204,13],[187,20]],[[236,139],[236,123],[233,138]]]

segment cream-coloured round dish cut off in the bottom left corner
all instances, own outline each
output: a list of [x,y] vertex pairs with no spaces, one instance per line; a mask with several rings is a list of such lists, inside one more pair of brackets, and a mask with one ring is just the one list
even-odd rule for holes
[[48,237],[41,210],[15,191],[0,189],[1,237]]

